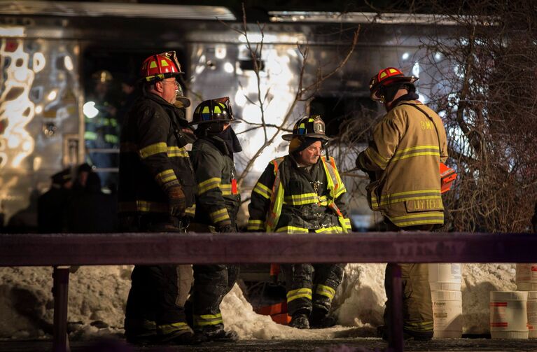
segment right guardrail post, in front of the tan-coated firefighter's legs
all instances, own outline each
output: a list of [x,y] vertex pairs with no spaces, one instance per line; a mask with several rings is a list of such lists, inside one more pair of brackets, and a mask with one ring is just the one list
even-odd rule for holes
[[403,351],[403,286],[401,283],[401,267],[393,265],[391,270],[391,326],[388,347],[389,351]]

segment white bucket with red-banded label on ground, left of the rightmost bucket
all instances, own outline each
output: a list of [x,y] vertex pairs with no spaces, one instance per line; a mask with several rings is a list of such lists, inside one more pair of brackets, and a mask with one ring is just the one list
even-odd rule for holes
[[528,314],[524,291],[491,291],[490,334],[493,339],[527,339]]

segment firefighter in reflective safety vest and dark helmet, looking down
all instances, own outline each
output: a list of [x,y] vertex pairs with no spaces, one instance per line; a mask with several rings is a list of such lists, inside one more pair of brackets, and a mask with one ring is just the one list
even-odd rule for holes
[[[251,193],[249,231],[345,233],[351,231],[342,183],[333,157],[321,156],[329,138],[319,115],[295,123],[282,136],[289,154],[270,162]],[[287,307],[294,328],[335,324],[329,316],[343,276],[342,264],[281,265]]]

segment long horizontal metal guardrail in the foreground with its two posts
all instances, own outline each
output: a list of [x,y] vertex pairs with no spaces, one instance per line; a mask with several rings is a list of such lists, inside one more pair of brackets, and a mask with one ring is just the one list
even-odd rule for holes
[[[0,266],[54,269],[53,351],[69,351],[69,265],[270,262],[537,262],[536,234],[0,234]],[[400,272],[389,351],[403,351]]]

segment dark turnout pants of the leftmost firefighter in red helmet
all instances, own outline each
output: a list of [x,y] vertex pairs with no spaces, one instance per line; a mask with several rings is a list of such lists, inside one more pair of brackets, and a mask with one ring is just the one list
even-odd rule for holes
[[[139,226],[133,225],[131,231],[184,232],[176,221],[166,218],[141,218]],[[131,278],[125,335],[169,335],[191,331],[184,312],[193,280],[190,265],[136,265]]]

